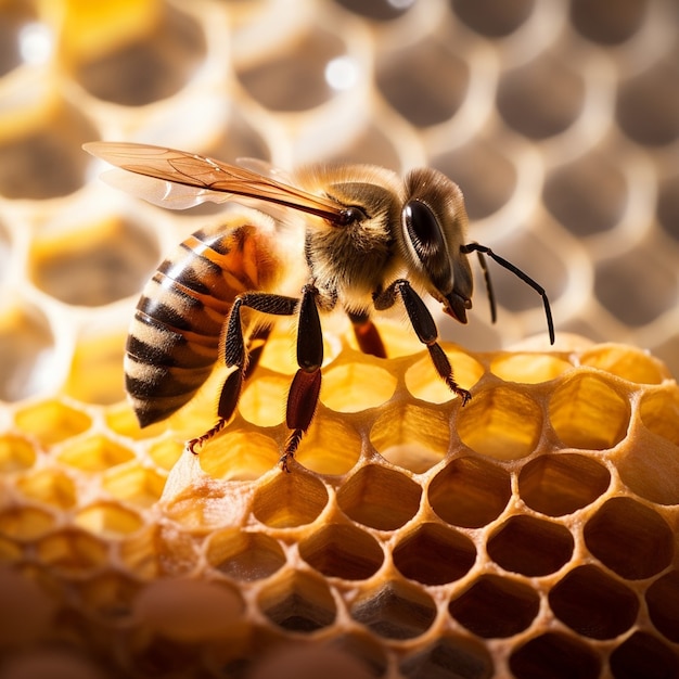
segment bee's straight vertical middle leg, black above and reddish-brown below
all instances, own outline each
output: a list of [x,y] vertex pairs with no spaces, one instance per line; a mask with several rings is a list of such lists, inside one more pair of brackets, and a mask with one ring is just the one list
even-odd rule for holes
[[323,363],[323,331],[318,315],[317,296],[313,285],[305,285],[299,303],[299,324],[297,329],[297,364],[287,394],[285,422],[292,430],[281,457],[281,467],[289,472],[289,462],[295,454],[304,433],[309,428],[321,390],[321,364]]

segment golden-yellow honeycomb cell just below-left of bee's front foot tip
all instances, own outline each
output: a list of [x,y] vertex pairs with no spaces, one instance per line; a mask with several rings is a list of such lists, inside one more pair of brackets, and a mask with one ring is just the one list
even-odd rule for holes
[[386,408],[370,430],[370,443],[392,464],[425,472],[448,452],[446,413],[408,405]]

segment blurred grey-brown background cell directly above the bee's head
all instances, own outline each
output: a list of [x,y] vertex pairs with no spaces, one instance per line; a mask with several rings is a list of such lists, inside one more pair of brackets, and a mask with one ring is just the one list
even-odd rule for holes
[[[428,77],[422,78],[422,73]],[[377,62],[376,87],[417,127],[438,125],[454,116],[469,84],[470,65],[435,37],[384,53]]]

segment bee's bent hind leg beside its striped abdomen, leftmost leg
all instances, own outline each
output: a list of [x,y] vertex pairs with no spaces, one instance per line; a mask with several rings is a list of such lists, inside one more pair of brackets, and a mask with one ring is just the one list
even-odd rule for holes
[[191,452],[196,452],[196,447],[202,446],[215,434],[219,433],[225,424],[232,418],[241,398],[243,382],[248,370],[248,355],[243,338],[243,323],[241,321],[241,307],[247,307],[262,313],[273,316],[292,316],[297,309],[298,299],[272,293],[251,292],[239,295],[227,321],[225,333],[225,363],[235,370],[227,376],[219,395],[217,406],[217,422],[205,434],[189,441]]

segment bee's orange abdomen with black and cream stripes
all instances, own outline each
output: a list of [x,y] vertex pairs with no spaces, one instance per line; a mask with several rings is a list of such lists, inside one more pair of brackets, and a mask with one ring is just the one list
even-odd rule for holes
[[158,267],[137,305],[125,357],[141,426],[168,418],[207,380],[233,299],[259,290],[268,265],[265,239],[245,226],[197,231]]

